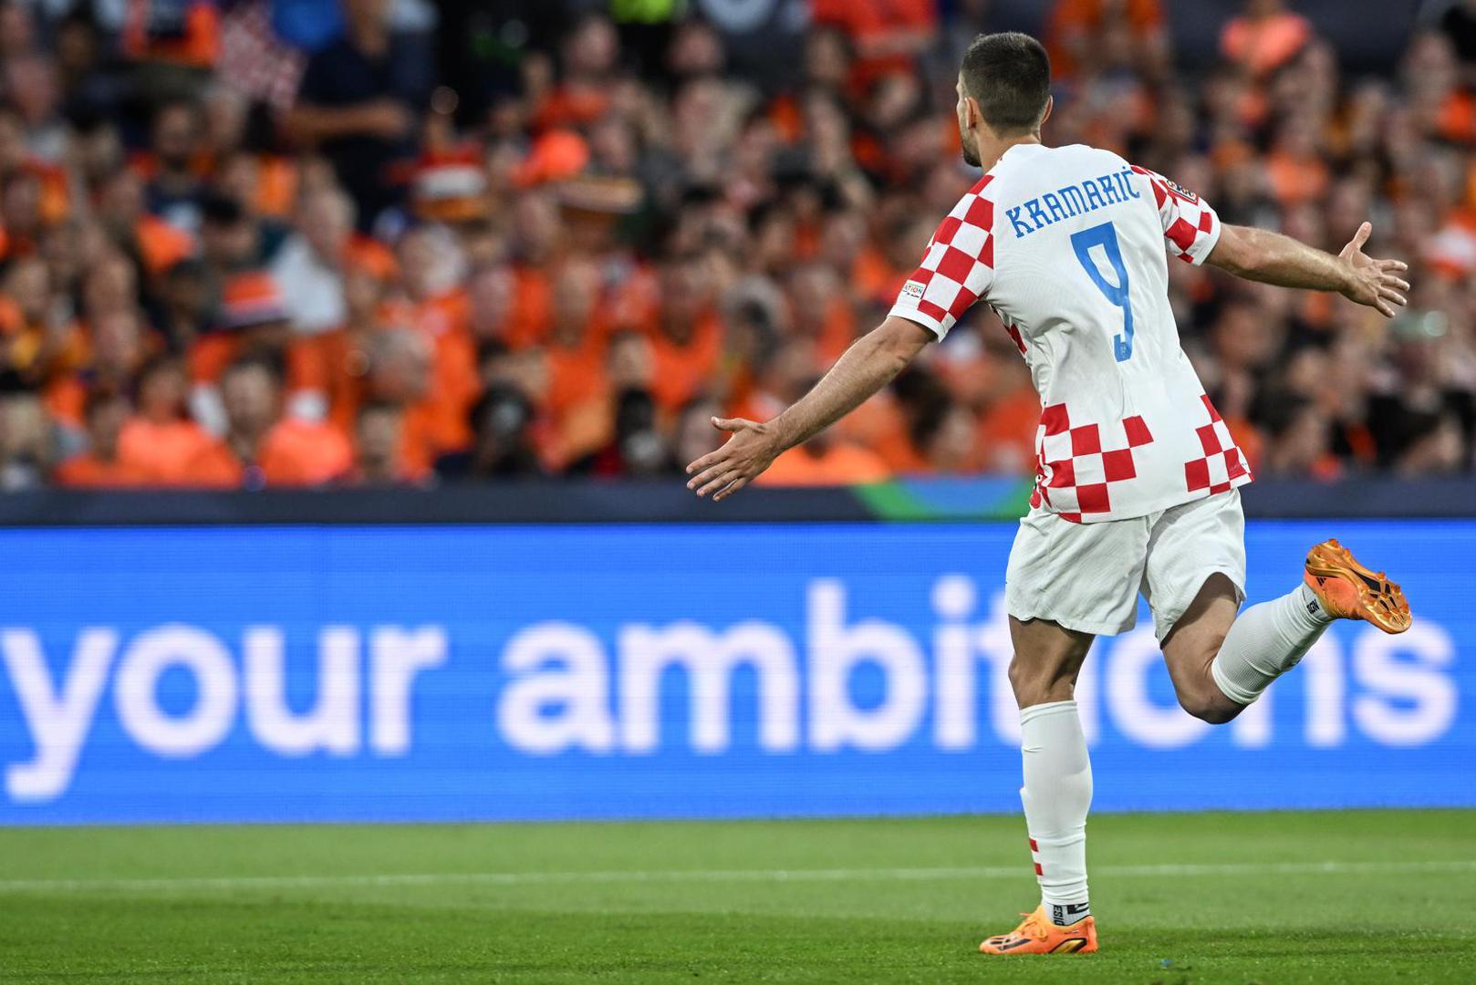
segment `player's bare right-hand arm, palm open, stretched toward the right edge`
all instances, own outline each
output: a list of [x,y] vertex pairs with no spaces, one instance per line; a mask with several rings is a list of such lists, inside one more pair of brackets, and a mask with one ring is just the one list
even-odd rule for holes
[[1336,257],[1297,242],[1290,236],[1253,229],[1224,226],[1219,242],[1204,263],[1228,270],[1237,278],[1275,284],[1283,288],[1337,291],[1349,301],[1379,309],[1393,318],[1395,306],[1404,306],[1410,285],[1396,272],[1408,269],[1402,260],[1374,260],[1364,253],[1373,226],[1364,223]]

